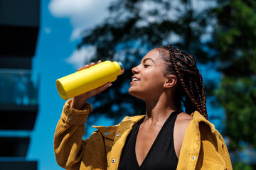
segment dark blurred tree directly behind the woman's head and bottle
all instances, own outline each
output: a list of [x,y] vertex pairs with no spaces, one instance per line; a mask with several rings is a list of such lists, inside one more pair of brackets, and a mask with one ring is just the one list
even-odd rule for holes
[[[96,47],[97,60],[120,60],[124,74],[112,88],[91,98],[93,116],[107,115],[117,122],[124,115],[144,114],[142,101],[128,94],[132,67],[158,45],[172,44],[206,62],[201,38],[206,34],[207,13],[189,0],[116,0],[104,23],[86,30],[79,47]],[[94,119],[90,119],[94,121]]]

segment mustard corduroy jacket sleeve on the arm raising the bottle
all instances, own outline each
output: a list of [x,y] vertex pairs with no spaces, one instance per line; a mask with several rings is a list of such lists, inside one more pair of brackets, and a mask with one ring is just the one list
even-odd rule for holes
[[[64,169],[80,169],[80,165],[85,164],[83,161],[92,157],[92,155],[88,155],[90,152],[87,152],[85,147],[90,138],[82,140],[82,136],[85,133],[85,121],[92,111],[92,106],[87,103],[82,111],[80,111],[70,108],[70,103],[71,101],[65,103],[55,130],[54,152],[57,163]],[[96,139],[95,135],[101,138],[100,141],[102,141],[100,133],[94,132],[92,134],[94,137],[91,137]],[[98,142],[100,141],[98,140]]]

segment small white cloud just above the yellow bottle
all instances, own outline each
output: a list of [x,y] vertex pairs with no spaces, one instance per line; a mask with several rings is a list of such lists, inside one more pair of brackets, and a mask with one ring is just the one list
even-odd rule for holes
[[90,64],[90,60],[95,57],[96,48],[94,46],[81,47],[75,50],[65,62],[73,64],[74,69],[83,67],[85,64]]

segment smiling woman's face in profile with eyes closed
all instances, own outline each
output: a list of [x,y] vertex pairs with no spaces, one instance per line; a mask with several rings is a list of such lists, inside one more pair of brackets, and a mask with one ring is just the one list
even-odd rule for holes
[[129,94],[142,100],[158,98],[164,91],[165,63],[159,57],[159,50],[151,50],[142,59],[142,62],[132,69]]

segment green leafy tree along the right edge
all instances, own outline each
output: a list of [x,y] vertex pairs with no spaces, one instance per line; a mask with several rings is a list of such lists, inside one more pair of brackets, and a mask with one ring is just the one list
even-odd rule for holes
[[223,72],[216,95],[225,109],[230,149],[256,147],[256,1],[225,1],[215,9],[214,47]]

